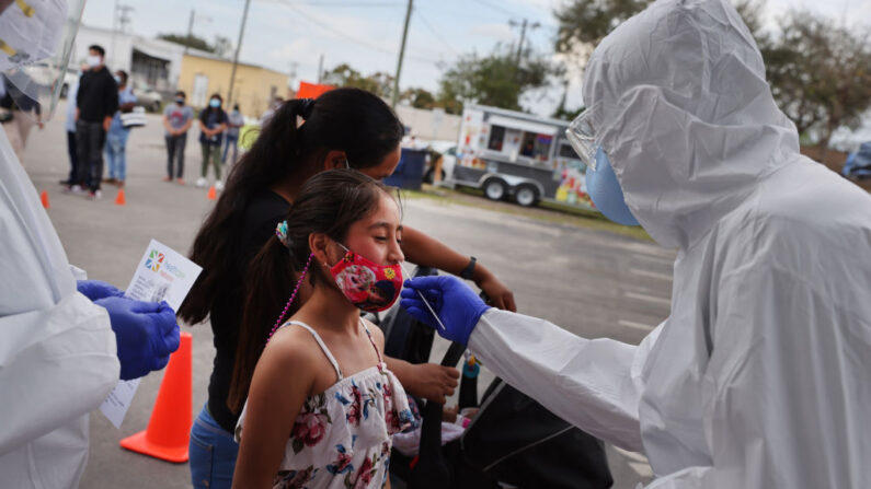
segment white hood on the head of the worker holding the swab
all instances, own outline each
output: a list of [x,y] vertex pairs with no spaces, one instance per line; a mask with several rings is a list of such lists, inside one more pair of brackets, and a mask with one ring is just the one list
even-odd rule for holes
[[727,0],[661,0],[593,53],[584,102],[632,214],[689,246],[799,158],[756,42]]

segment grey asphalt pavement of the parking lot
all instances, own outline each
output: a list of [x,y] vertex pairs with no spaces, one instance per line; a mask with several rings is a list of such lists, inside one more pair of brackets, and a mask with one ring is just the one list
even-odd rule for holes
[[[126,206],[116,206],[116,188],[104,186],[102,200],[65,195],[58,179],[69,161],[60,117],[34,129],[23,164],[36,187],[47,190],[48,213],[70,263],[90,278],[124,288],[150,238],[181,253],[191,246],[213,201],[192,184],[199,172],[196,135],[188,137],[187,185],[161,182],[165,173],[162,127],[157,116],[134,129],[127,154]],[[196,132],[196,131],[192,131]],[[547,223],[491,210],[431,199],[408,199],[404,223],[455,249],[473,255],[515,292],[520,313],[545,317],[585,337],[638,344],[668,314],[674,253],[653,243],[601,231]],[[194,338],[192,416],[206,400],[214,348],[208,325],[183,326]],[[442,351],[434,351],[440,359]],[[480,392],[491,376],[482,377]],[[148,424],[162,373],[145,377],[121,430],[99,412],[91,415],[91,455],[82,488],[185,488],[186,464],[169,464],[122,450],[118,441]],[[616,488],[650,480],[638,454],[609,447]]]

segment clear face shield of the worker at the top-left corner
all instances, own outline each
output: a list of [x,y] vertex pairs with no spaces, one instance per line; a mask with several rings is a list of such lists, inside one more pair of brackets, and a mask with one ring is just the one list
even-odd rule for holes
[[0,97],[55,112],[85,0],[0,0]]

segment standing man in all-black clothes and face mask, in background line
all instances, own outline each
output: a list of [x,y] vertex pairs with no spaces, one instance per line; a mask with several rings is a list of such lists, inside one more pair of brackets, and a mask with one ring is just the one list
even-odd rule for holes
[[90,176],[89,198],[102,197],[100,182],[103,179],[103,144],[112,118],[118,112],[118,84],[104,62],[105,49],[100,45],[88,48],[90,69],[79,81],[76,94],[76,147],[79,151],[78,182],[68,190],[81,193],[85,175]]

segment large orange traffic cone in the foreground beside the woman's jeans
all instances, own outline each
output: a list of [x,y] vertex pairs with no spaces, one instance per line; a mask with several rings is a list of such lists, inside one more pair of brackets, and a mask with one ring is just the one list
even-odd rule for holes
[[191,334],[182,333],[179,350],[170,357],[160,384],[148,429],[122,440],[122,447],[162,461],[187,462],[187,442],[193,422],[191,345]]

